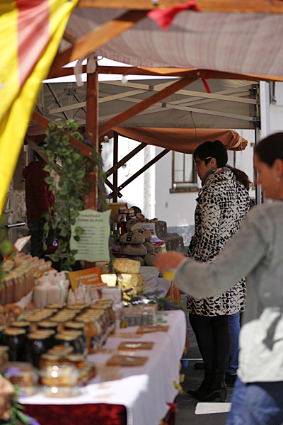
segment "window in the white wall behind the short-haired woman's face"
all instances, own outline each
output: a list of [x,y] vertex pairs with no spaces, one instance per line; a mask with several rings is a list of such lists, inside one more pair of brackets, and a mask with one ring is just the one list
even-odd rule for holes
[[172,152],[171,193],[197,190],[197,173],[192,154]]

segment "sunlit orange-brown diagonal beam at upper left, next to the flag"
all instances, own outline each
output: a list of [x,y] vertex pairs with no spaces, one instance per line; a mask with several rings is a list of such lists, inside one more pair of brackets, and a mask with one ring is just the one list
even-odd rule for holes
[[69,62],[83,59],[83,57],[94,52],[98,47],[105,45],[112,38],[129,30],[145,16],[146,11],[127,11],[122,16],[98,26],[91,33],[83,35],[79,40],[76,40],[72,47],[62,53],[57,53],[47,78],[51,78],[53,74],[56,74]]

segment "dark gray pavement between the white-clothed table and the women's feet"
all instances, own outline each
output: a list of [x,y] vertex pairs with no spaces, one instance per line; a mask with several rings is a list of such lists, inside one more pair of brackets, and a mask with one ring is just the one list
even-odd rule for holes
[[[183,298],[183,296],[182,296]],[[197,348],[195,334],[190,327],[190,322],[187,317],[187,331],[190,341],[190,348],[187,351],[185,358],[189,359],[187,368],[182,368],[181,373],[185,375],[185,381],[182,384],[183,394],[178,395],[176,399],[177,412],[175,414],[175,425],[225,425],[227,413],[214,414],[195,414],[197,400],[187,394],[187,390],[195,390],[200,386],[204,378],[203,370],[195,370],[193,365],[200,359],[200,351]],[[231,401],[233,387],[228,387],[227,402]],[[219,400],[216,400],[219,402]]]

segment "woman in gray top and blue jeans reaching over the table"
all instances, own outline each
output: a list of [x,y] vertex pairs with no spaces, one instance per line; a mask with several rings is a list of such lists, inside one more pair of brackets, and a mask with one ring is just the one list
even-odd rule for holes
[[[212,297],[247,276],[238,378],[226,425],[283,422],[283,132],[255,147],[258,183],[273,203],[253,208],[213,263],[178,252],[158,254],[155,266],[176,268],[175,285],[193,297]],[[212,388],[211,399],[224,399]]]

